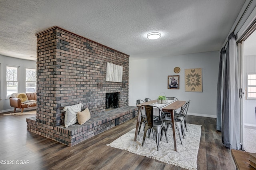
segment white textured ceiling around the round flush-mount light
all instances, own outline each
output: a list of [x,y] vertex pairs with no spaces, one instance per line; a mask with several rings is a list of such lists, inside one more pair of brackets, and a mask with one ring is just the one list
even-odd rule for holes
[[[52,26],[130,55],[220,50],[245,0],[1,0],[0,54],[34,60],[35,34]],[[149,40],[150,32],[161,38]],[[31,57],[33,56],[33,57]]]

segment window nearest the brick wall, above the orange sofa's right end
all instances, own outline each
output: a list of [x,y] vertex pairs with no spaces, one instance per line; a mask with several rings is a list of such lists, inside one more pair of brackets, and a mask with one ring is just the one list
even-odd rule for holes
[[36,92],[36,69],[26,68],[26,93]]

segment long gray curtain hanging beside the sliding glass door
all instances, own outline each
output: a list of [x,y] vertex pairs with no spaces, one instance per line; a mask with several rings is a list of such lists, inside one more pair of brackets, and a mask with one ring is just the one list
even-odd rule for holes
[[224,146],[240,149],[240,126],[238,55],[236,36],[231,33],[228,37],[226,56],[223,48],[220,53],[217,87],[216,129],[222,132]]

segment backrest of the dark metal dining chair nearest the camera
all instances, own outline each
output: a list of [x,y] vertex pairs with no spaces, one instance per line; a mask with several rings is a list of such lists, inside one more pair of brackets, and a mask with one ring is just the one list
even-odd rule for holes
[[140,107],[140,109],[142,109],[144,107],[145,109],[145,115],[146,115],[146,118],[147,118],[147,124],[148,124],[148,127],[153,127],[154,126],[154,114],[153,112],[155,111],[155,115],[157,115],[159,118],[158,118],[158,121],[162,121],[163,123],[163,119],[162,119],[162,111],[159,107],[156,107],[156,106],[152,106],[152,105],[142,105]]

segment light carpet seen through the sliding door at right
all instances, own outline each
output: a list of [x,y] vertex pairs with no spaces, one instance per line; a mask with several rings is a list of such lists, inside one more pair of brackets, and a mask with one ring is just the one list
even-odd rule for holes
[[250,153],[256,153],[256,129],[244,128],[244,150]]

